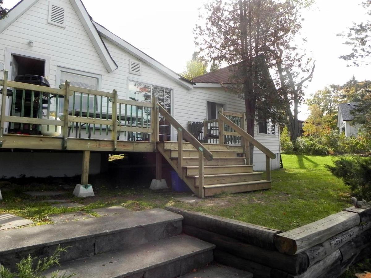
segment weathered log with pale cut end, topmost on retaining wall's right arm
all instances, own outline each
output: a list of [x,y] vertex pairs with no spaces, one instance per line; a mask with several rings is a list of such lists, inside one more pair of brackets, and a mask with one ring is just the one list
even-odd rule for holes
[[275,245],[278,251],[295,255],[340,232],[357,226],[359,223],[358,214],[341,211],[311,224],[276,235]]

